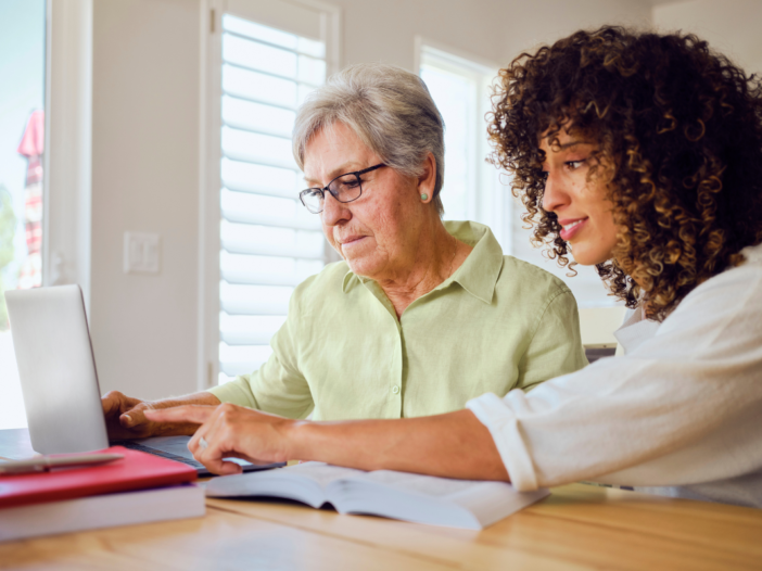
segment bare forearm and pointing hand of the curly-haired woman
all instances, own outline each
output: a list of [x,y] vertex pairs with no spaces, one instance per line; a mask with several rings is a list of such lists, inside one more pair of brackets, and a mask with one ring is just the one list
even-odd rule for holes
[[398,420],[310,422],[224,404],[147,410],[145,417],[155,422],[202,424],[188,447],[215,473],[238,473],[238,465],[223,461],[237,456],[254,461],[320,460],[360,470],[509,480],[490,432],[470,410]]

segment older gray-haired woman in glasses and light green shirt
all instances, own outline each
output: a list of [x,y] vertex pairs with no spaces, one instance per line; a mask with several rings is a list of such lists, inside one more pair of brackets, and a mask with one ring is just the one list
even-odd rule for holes
[[300,110],[293,147],[301,200],[344,261],[296,288],[252,375],[181,399],[106,395],[113,437],[192,434],[142,415],[182,402],[316,420],[433,415],[586,365],[560,280],[504,256],[485,226],[442,223],[443,123],[417,76],[345,69]]

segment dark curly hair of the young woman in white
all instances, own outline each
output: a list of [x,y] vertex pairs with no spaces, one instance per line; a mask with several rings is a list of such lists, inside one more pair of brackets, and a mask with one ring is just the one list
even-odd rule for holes
[[493,105],[491,160],[561,266],[571,250],[542,207],[539,140],[566,128],[597,142],[618,236],[596,268],[627,307],[663,319],[762,242],[762,85],[696,36],[577,31],[501,69]]

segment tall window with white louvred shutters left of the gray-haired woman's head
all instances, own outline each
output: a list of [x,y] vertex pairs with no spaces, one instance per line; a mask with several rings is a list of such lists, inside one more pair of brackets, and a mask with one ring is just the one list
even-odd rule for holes
[[[282,12],[274,9],[280,4]],[[299,201],[304,180],[291,130],[296,109],[335,61],[329,30],[338,29],[336,12],[312,2],[228,1],[220,9],[218,51],[209,50],[219,69],[209,98],[218,132],[209,150],[218,280],[206,300],[218,312],[206,333],[207,386],[267,360],[294,288],[332,259],[320,218]]]

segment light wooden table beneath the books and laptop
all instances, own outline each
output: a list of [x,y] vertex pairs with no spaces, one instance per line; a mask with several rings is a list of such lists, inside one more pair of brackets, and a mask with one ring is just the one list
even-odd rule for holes
[[572,484],[472,532],[207,499],[204,518],[0,544],[0,569],[762,570],[762,510]]

